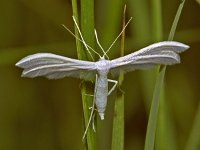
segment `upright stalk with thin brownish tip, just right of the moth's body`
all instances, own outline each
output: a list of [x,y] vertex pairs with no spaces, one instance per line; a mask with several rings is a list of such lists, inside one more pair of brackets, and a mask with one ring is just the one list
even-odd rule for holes
[[[123,25],[126,21],[126,5],[124,6]],[[120,56],[124,56],[125,31],[122,33]],[[120,90],[124,80],[124,75],[120,73],[118,78],[117,96],[115,99],[113,130],[112,130],[112,150],[124,149],[124,93]]]

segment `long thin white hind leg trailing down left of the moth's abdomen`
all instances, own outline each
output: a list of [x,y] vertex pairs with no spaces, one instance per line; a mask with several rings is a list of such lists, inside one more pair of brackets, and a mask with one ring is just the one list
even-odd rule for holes
[[[97,79],[98,79],[98,76],[96,75],[96,82],[97,82]],[[95,86],[95,89],[94,89],[94,93],[96,93],[96,86]],[[87,127],[86,127],[86,129],[85,129],[84,134],[83,134],[83,138],[82,138],[82,140],[85,139],[85,136],[86,136],[86,134],[87,134],[88,128],[89,128],[90,123],[91,123],[91,121],[92,121],[92,119],[93,119],[93,116],[94,116],[94,110],[95,110],[94,105],[95,105],[95,99],[96,99],[96,96],[95,96],[95,94],[94,94],[93,104],[92,104],[92,110],[91,110],[91,113],[90,113],[90,117],[89,117],[89,120],[88,120]],[[93,122],[93,129],[94,129],[94,131],[95,131],[95,128],[94,128],[94,122]]]

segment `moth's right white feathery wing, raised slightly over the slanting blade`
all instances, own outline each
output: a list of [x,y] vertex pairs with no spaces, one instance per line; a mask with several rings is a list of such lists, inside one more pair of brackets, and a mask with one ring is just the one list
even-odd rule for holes
[[149,69],[155,65],[173,65],[180,63],[178,53],[189,46],[173,41],[164,41],[149,45],[129,55],[111,60],[111,73],[118,75],[136,69]]

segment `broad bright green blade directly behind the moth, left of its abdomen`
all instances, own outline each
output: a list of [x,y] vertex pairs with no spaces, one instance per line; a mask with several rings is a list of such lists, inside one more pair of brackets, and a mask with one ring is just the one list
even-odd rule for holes
[[[81,0],[81,31],[88,45],[94,47],[94,1]],[[86,53],[87,60],[90,60],[89,54]],[[85,126],[87,126],[91,110],[88,108],[93,105],[93,97],[86,96],[91,93],[88,85],[85,83],[82,90],[82,103],[84,111]],[[92,91],[93,93],[93,91]],[[96,133],[92,128],[88,129],[86,136],[88,150],[96,149]]]

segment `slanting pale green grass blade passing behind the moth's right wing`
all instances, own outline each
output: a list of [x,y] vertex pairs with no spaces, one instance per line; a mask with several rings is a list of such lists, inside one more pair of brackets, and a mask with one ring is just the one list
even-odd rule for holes
[[[174,22],[172,24],[170,34],[168,37],[168,40],[173,40],[174,34],[176,31],[176,27],[178,24],[178,20],[180,18],[180,14],[183,8],[185,1],[182,1],[180,4],[177,14],[175,16]],[[158,72],[158,76],[156,79],[156,85],[153,93],[153,99],[152,99],[152,106],[150,109],[150,115],[149,115],[149,121],[147,126],[147,134],[146,134],[146,141],[145,141],[145,150],[153,150],[154,149],[154,143],[155,143],[155,134],[156,134],[156,128],[157,128],[157,118],[158,118],[158,109],[159,109],[159,101],[160,101],[160,95],[162,92],[162,87],[164,83],[164,76],[165,76],[166,66],[163,66],[160,68],[160,71]],[[164,98],[164,97],[162,97]]]

